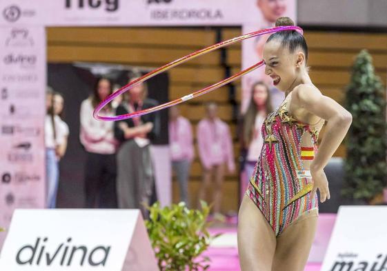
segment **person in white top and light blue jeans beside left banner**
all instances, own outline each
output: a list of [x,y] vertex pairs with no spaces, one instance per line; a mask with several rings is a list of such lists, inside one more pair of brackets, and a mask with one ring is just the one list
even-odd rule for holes
[[45,119],[47,208],[55,208],[59,186],[59,160],[66,153],[68,125],[61,119],[64,99],[48,88]]

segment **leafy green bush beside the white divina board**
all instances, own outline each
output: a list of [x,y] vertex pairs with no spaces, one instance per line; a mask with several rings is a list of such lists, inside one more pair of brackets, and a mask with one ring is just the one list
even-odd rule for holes
[[211,237],[208,233],[207,203],[201,201],[201,210],[190,210],[183,202],[164,208],[155,203],[148,210],[146,228],[161,271],[209,268],[210,259],[199,256],[219,234]]

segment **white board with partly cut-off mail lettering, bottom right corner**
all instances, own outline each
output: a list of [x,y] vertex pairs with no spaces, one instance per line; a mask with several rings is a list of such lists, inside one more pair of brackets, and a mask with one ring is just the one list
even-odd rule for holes
[[387,206],[341,206],[321,271],[386,271]]

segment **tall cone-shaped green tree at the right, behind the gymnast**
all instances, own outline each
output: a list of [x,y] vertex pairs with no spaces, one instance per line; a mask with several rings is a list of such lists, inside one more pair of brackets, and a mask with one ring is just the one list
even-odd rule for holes
[[346,89],[346,108],[353,123],[346,140],[343,194],[370,202],[386,188],[386,97],[372,58],[361,50]]

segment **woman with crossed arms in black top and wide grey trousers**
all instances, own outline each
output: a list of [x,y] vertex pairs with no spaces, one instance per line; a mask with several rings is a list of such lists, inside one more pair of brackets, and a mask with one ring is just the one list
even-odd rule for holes
[[[132,77],[130,81],[139,78]],[[147,98],[148,90],[143,83],[128,91],[116,114],[128,114],[157,105]],[[147,211],[143,203],[149,204],[154,187],[154,170],[150,157],[150,140],[159,134],[159,114],[115,121],[115,137],[120,142],[117,152],[117,196],[119,208],[141,209],[143,217]]]

